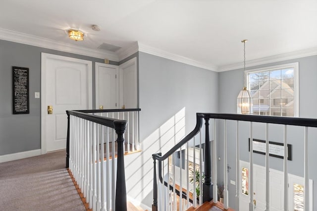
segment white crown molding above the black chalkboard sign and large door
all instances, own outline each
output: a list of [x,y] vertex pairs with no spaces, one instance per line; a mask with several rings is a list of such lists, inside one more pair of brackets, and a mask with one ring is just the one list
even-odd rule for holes
[[42,37],[37,37],[21,32],[14,32],[7,29],[0,28],[0,40],[19,42],[23,44],[34,45],[38,47],[45,47],[53,50],[60,50],[69,53],[75,53],[85,56],[92,56],[95,58],[109,59],[112,61],[118,61],[118,56],[113,52],[106,52],[103,50],[91,49],[88,47],[82,47],[64,42],[58,42]]

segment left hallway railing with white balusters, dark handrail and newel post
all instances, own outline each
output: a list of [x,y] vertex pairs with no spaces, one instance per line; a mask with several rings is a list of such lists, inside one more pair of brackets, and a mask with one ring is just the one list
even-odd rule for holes
[[[110,117],[120,112],[138,111],[140,109],[66,111],[68,116],[66,168],[72,172],[93,211],[127,210],[124,134],[128,123],[126,120]],[[128,118],[130,114],[127,113]],[[131,116],[134,123],[134,114],[132,113]],[[130,125],[134,128],[134,124]],[[134,131],[132,134],[131,145],[134,147],[131,149],[129,143],[126,147],[127,152],[134,151],[139,143],[135,138],[138,137],[138,132],[137,135]],[[127,137],[130,139],[131,136],[127,135]]]

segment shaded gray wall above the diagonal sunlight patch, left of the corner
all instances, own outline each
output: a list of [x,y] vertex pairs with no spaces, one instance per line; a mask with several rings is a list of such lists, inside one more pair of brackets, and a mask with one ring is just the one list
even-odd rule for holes
[[139,52],[140,140],[185,107],[185,134],[197,112],[218,111],[218,73]]

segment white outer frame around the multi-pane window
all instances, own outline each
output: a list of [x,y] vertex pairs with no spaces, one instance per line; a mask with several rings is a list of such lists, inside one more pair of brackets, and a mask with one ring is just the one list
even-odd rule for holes
[[[267,71],[286,69],[286,68],[294,68],[294,87],[293,87],[293,89],[294,89],[294,96],[293,96],[294,116],[293,117],[299,117],[299,63],[298,62],[281,64],[281,65],[274,65],[274,66],[267,66],[267,67],[252,69],[252,70],[246,70],[245,72],[246,72],[246,76],[247,76],[246,77],[247,78],[247,88],[248,88],[248,90],[250,90],[249,76],[251,73],[267,72]],[[261,98],[259,98],[259,99],[261,99]],[[269,114],[268,116],[273,116],[273,115]]]

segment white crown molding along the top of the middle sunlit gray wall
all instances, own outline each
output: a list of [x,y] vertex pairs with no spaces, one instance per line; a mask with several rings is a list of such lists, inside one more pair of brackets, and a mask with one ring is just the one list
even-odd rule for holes
[[151,47],[145,44],[142,44],[140,42],[138,42],[139,45],[139,51],[144,52],[144,53],[149,53],[152,55],[156,55],[159,57],[163,57],[166,59],[170,59],[173,61],[177,61],[177,62],[181,62],[181,63],[185,63],[185,64],[189,64],[195,67],[200,67],[203,69],[207,69],[207,70],[211,70],[211,71],[217,71],[217,66],[211,65],[211,64],[206,64],[206,63],[202,63],[184,56],[180,56],[177,54],[173,54],[155,47]]

